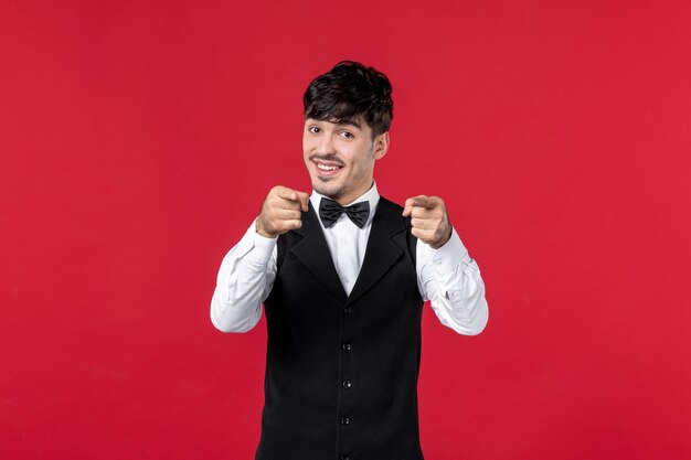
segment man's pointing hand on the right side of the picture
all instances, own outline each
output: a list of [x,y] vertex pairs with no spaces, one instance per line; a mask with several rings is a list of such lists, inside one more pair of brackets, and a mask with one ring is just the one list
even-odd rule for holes
[[411,217],[411,233],[438,249],[451,237],[446,206],[438,196],[417,195],[405,201],[404,217]]

